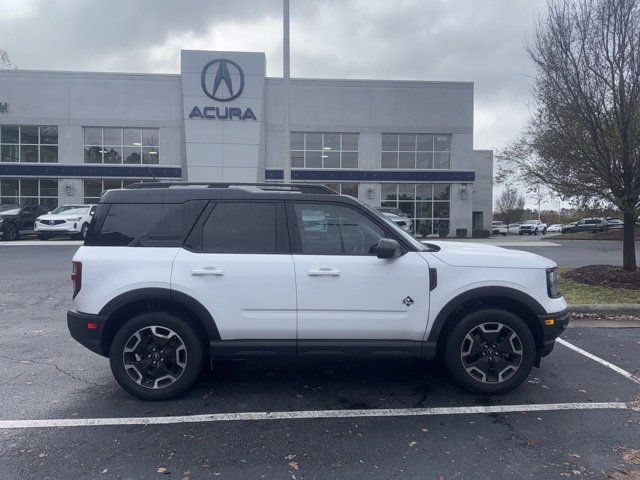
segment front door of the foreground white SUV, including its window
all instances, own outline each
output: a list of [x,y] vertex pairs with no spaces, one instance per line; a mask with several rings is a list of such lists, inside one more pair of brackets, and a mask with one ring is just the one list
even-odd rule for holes
[[387,227],[348,205],[300,202],[287,213],[295,238],[299,353],[376,344],[384,350],[380,342],[422,339],[429,308],[423,257],[378,258],[375,247],[389,236]]

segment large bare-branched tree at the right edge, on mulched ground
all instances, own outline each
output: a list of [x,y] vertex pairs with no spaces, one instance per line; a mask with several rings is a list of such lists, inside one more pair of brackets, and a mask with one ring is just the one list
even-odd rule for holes
[[549,0],[528,53],[536,107],[502,174],[623,215],[623,265],[636,269],[640,201],[640,0]]

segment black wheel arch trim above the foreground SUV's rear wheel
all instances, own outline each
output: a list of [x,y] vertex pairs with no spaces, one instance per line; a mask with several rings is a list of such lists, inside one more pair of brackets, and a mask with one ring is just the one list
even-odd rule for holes
[[110,317],[120,308],[141,300],[168,300],[181,305],[195,314],[196,320],[207,332],[209,341],[220,340],[220,332],[218,331],[215,320],[205,306],[186,293],[168,288],[139,288],[136,290],[130,290],[111,299],[104,307],[102,307],[99,315]]

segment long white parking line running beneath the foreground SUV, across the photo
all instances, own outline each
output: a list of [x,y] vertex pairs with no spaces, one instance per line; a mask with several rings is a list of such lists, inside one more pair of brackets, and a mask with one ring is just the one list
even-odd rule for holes
[[476,415],[488,413],[550,412],[558,410],[625,410],[624,402],[542,403],[533,405],[495,405],[487,407],[385,408],[365,410],[307,410],[297,412],[240,412],[172,417],[60,418],[48,420],[2,420],[0,429],[105,427],[118,425],[167,425],[256,420],[302,420],[316,418],[410,417],[433,415]]

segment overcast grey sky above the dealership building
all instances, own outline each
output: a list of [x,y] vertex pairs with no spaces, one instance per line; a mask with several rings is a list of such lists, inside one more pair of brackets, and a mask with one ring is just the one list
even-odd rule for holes
[[[291,0],[291,75],[475,82],[476,148],[529,115],[524,47],[545,0]],[[0,0],[19,68],[179,73],[180,49],[264,51],[282,74],[281,0]],[[529,202],[528,202],[529,203]]]

